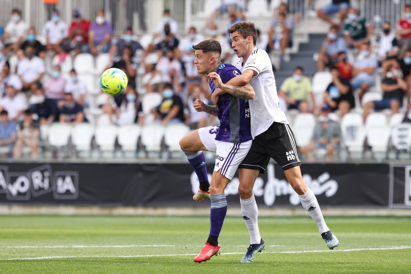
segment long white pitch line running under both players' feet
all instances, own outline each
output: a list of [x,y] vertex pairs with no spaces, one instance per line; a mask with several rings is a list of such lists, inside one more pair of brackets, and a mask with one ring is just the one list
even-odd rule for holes
[[[372,250],[400,250],[400,249],[411,249],[411,246],[392,246],[392,247],[376,247],[376,248],[359,248],[359,249],[336,249],[336,250],[301,250],[301,251],[274,251],[274,252],[264,252],[268,254],[279,254],[279,253],[323,253],[323,252],[352,252],[352,251],[372,251]],[[237,255],[244,254],[244,252],[227,252],[222,253],[222,255]],[[0,259],[5,260],[42,260],[42,259],[64,259],[64,258],[139,258],[139,257],[170,257],[170,256],[194,256],[193,254],[152,254],[152,255],[123,255],[123,256],[44,256],[44,257],[28,257],[28,258],[10,258],[10,259]]]

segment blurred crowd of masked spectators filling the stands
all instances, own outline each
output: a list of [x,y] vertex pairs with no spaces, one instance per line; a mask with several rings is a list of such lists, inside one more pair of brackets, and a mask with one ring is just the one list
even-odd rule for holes
[[[337,111],[343,117],[361,104],[366,120],[373,110],[398,113],[404,107],[405,120],[411,118],[411,6],[404,7],[397,26],[383,23],[374,43],[372,23],[349,2],[332,0],[317,11],[318,17],[330,24],[317,60],[318,71],[332,74],[332,81],[323,92],[323,103],[316,104],[312,80],[305,76],[304,67],[296,67],[289,78],[277,85],[285,112],[295,109],[318,116],[312,142],[301,147],[307,158],[316,148],[325,149],[328,157],[339,149],[341,132],[338,121],[328,117],[330,112]],[[14,158],[21,157],[23,146],[31,147],[32,157],[37,157],[39,125],[51,123],[184,123],[191,129],[218,124],[215,117],[198,113],[192,106],[197,98],[212,104],[208,81],[197,74],[193,64],[192,46],[203,39],[217,39],[222,46],[222,62],[230,62],[230,39],[225,32],[218,32],[213,20],[227,16],[228,28],[246,19],[244,8],[245,1],[236,1],[236,5],[223,1],[202,33],[195,27],[180,33],[170,11],[164,10],[155,35],[145,47],[130,27],[120,37],[114,37],[113,26],[102,10],[89,20],[76,8],[72,22],[65,22],[55,9],[43,29],[36,30],[23,21],[19,9],[13,9],[4,31],[0,28],[0,145],[9,147]],[[339,23],[329,17],[337,13]],[[269,53],[275,51],[284,60],[286,48],[293,46],[293,28],[298,18],[289,14],[284,3],[273,14],[270,27],[263,30],[268,32],[268,39],[260,39],[259,33],[257,47]],[[89,78],[78,74],[74,60],[84,53],[94,58],[106,56],[106,67],[97,68],[101,71],[109,67],[125,71],[129,79],[125,92],[115,97],[97,92],[95,77],[90,84]],[[381,86],[382,99],[365,102],[365,95],[375,86]],[[143,104],[148,94],[157,95],[149,95],[153,101],[158,100],[155,106]]]

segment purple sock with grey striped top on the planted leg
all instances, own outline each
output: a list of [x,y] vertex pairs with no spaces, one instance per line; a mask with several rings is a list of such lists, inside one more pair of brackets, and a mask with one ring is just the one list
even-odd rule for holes
[[217,239],[223,227],[224,218],[227,213],[227,199],[225,194],[211,195],[211,210],[210,210],[210,237],[207,242],[214,246],[218,245]]

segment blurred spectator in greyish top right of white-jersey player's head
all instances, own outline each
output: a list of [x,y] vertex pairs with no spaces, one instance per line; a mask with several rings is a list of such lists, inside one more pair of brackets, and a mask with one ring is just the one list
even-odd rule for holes
[[278,16],[272,20],[268,31],[268,47],[272,50],[280,50],[284,56],[285,48],[293,46],[293,17],[287,12],[287,5],[281,3],[278,7]]

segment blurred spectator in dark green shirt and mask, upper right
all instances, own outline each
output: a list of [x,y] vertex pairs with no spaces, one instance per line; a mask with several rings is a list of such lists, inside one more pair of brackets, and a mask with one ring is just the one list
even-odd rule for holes
[[356,9],[351,7],[348,18],[344,24],[344,35],[347,43],[354,48],[359,48],[363,42],[368,43],[374,28],[365,18],[360,18]]

